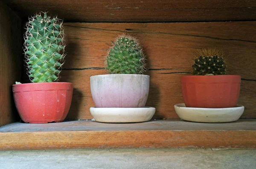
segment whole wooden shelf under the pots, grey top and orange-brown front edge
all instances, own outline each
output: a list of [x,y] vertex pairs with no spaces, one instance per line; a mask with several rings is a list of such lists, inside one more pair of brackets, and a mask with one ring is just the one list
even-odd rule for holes
[[67,121],[0,127],[1,150],[70,148],[256,148],[256,119],[207,124],[181,120],[107,124]]

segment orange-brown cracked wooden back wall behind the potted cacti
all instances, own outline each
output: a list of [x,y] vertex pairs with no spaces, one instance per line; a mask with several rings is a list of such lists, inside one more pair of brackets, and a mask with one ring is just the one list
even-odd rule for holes
[[116,34],[125,30],[140,37],[148,56],[146,74],[151,76],[151,86],[147,106],[156,107],[153,118],[178,118],[173,106],[183,102],[180,76],[191,72],[197,49],[211,47],[224,50],[228,74],[241,75],[242,118],[256,118],[255,26],[256,22],[65,23],[68,54],[61,81],[75,87],[67,119],[92,118],[90,76],[106,73],[102,55]]

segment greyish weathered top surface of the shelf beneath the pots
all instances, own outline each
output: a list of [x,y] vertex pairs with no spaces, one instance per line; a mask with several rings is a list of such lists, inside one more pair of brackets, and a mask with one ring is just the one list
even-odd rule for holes
[[256,130],[256,119],[239,119],[232,123],[195,123],[179,119],[151,120],[144,123],[99,123],[91,120],[61,123],[29,124],[15,122],[0,127],[0,132],[64,132],[64,131],[147,131],[147,130]]

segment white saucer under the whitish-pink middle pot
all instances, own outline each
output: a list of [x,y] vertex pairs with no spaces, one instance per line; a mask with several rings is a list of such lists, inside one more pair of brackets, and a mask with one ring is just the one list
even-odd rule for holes
[[90,113],[95,121],[105,123],[134,123],[149,121],[156,109],[154,107],[139,108],[95,108],[90,107]]

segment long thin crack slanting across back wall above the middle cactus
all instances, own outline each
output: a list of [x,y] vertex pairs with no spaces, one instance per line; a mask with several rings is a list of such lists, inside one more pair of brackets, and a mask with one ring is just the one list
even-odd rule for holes
[[[71,26],[71,25],[65,25],[65,26],[74,27],[74,28],[95,29],[95,30],[102,30],[102,31],[125,32],[125,31],[119,31],[119,30],[113,30],[113,29],[88,28],[88,27]],[[242,42],[252,42],[252,43],[256,43],[256,41],[253,41],[253,40],[224,39],[224,38],[209,37],[209,36],[191,35],[191,34],[172,34],[172,33],[164,33],[164,32],[144,32],[144,31],[141,31],[141,32],[131,31],[131,32],[129,32],[129,33],[136,33],[136,34],[168,34],[168,35],[179,35],[179,36],[190,36],[190,37],[205,37],[205,38],[217,39],[217,40],[234,40],[234,41],[242,41]]]

